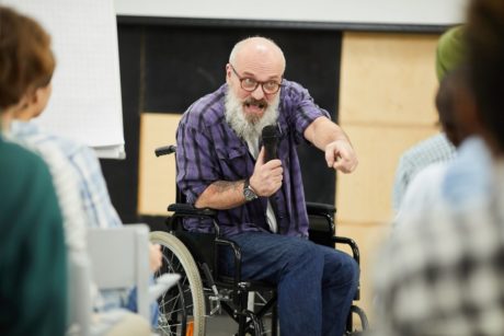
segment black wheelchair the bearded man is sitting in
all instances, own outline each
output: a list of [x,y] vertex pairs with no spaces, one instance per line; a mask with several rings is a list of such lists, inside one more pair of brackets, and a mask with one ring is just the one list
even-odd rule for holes
[[[156,149],[156,155],[176,154],[175,146]],[[346,244],[354,259],[359,264],[357,244],[347,237],[335,236],[335,208],[322,204],[307,204],[310,220],[309,236],[318,244],[335,247]],[[176,188],[176,204],[168,207],[172,212],[167,219],[168,231],[150,233],[150,241],[161,245],[163,260],[157,276],[176,273],[181,279],[176,286],[159,299],[159,335],[206,335],[206,325],[222,311],[237,323],[234,335],[278,335],[276,288],[263,281],[250,281],[240,276],[240,247],[219,234],[216,211],[197,209],[185,204],[185,196]],[[209,219],[213,233],[187,232],[182,219],[192,217]],[[234,276],[220,275],[217,267],[218,248],[227,246],[234,254]],[[359,287],[355,300],[359,299]],[[260,300],[249,299],[249,293],[260,293]],[[359,323],[355,322],[355,317]],[[368,328],[365,312],[352,305],[346,322],[345,335],[358,334]],[[279,331],[282,332],[282,331]]]

